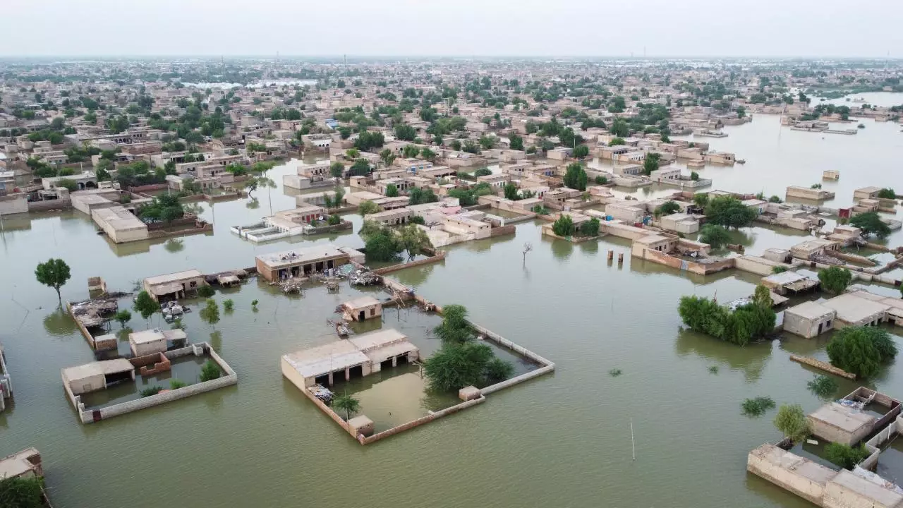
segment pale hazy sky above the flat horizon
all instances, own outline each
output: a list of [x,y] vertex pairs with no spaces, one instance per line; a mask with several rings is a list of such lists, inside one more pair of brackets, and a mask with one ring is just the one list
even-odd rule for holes
[[903,58],[903,0],[3,0],[0,54]]

